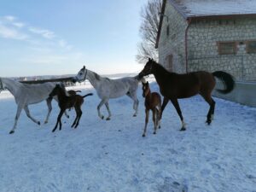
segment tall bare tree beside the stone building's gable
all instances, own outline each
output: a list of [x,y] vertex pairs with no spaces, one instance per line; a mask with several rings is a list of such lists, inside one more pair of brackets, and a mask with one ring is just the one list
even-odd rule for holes
[[158,61],[157,49],[154,48],[160,22],[160,10],[162,0],[148,0],[148,3],[142,8],[142,24],[140,34],[142,42],[138,44],[138,53],[136,55],[139,63],[144,63],[148,58]]

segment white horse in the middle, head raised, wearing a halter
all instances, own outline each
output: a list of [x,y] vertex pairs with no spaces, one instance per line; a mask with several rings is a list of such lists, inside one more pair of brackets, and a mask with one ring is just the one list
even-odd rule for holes
[[101,119],[104,119],[100,109],[102,105],[105,104],[108,110],[108,118],[111,117],[111,112],[108,105],[108,100],[117,98],[119,96],[129,96],[133,100],[133,109],[135,113],[133,114],[134,117],[137,116],[137,108],[138,108],[138,99],[137,99],[137,87],[139,83],[139,79],[136,77],[127,77],[121,79],[108,79],[103,78],[97,73],[94,73],[85,67],[83,67],[77,76],[73,78],[73,81],[84,81],[88,79],[90,84],[96,89],[97,95],[102,99],[102,101],[97,106],[98,116]]

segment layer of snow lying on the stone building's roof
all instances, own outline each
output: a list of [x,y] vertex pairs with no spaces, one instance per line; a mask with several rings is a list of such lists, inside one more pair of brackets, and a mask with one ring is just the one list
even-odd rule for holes
[[256,14],[255,0],[170,0],[185,17]]

